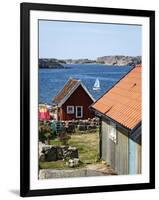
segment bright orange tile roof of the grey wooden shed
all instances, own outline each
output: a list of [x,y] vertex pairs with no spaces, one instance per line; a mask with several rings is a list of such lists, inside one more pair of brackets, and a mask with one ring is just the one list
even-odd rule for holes
[[141,122],[141,65],[136,65],[91,107],[126,128]]

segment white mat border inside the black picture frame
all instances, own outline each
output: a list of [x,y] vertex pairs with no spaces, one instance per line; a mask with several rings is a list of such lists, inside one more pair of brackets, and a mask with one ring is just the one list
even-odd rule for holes
[[[38,20],[142,25],[142,174],[38,179]],[[68,12],[30,12],[30,189],[149,183],[149,18]]]

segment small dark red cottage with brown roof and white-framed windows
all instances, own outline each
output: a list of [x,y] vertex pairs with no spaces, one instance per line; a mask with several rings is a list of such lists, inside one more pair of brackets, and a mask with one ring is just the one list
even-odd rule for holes
[[93,118],[94,114],[88,108],[93,102],[87,88],[74,78],[70,78],[53,99],[58,108],[58,120]]

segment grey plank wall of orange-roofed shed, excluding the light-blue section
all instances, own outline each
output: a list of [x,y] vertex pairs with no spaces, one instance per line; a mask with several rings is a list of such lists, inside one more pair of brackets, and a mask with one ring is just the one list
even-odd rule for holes
[[117,142],[109,138],[109,121],[102,119],[102,159],[105,160],[117,172],[128,174],[128,133],[117,128]]

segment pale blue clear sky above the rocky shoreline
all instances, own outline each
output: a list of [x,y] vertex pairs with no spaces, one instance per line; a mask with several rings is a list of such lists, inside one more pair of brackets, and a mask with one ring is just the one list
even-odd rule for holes
[[142,26],[39,20],[39,58],[141,56]]

